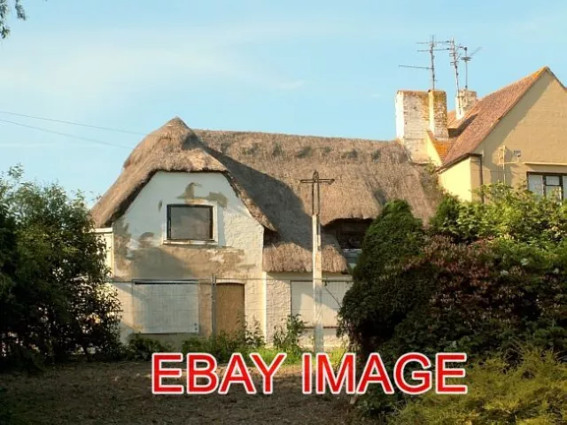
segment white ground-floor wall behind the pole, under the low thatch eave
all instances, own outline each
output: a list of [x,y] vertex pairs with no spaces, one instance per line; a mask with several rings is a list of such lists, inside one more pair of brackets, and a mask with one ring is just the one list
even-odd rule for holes
[[[346,290],[352,284],[352,278],[346,274],[323,274],[324,280],[332,281],[330,290],[338,295],[338,301],[342,301]],[[308,273],[273,273],[266,274],[266,341],[272,343],[274,330],[276,327],[283,326],[288,315],[292,313],[301,313],[298,308],[307,308],[313,305],[313,294],[309,293],[309,288],[313,288],[312,278]],[[293,285],[293,287],[292,287]],[[323,290],[323,294],[327,293]],[[296,302],[292,302],[296,298]],[[336,302],[331,302],[330,297],[323,297],[323,302],[329,301],[327,309],[327,321],[323,323],[323,341],[325,349],[336,347],[344,343],[337,337],[337,322],[331,320],[331,308],[336,306]],[[293,309],[292,309],[293,305]],[[303,318],[303,321],[309,321],[310,317]],[[312,346],[313,329],[308,328],[305,336],[300,340],[300,344]]]

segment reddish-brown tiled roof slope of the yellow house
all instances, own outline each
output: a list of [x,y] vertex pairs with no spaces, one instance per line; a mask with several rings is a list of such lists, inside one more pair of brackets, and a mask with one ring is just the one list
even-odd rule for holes
[[[543,73],[550,72],[548,66],[508,86],[483,97],[461,120],[455,120],[454,111],[447,114],[449,133],[454,143],[443,160],[448,166],[472,153],[501,118],[517,104],[524,93],[532,87]],[[440,155],[439,155],[440,156]]]

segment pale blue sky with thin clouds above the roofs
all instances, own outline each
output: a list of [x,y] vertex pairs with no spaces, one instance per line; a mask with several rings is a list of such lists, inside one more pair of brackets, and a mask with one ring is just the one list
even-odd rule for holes
[[[0,111],[123,128],[100,131],[0,113],[0,171],[102,194],[143,134],[180,116],[192,128],[395,135],[398,89],[428,89],[416,42],[472,50],[479,96],[541,66],[567,81],[564,0],[26,0],[0,42]],[[158,4],[164,4],[159,6]],[[438,52],[439,89],[454,82]]]

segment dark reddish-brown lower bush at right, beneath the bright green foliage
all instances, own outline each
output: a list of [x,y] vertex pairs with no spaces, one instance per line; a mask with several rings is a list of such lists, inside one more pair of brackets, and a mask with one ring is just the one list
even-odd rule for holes
[[567,352],[566,247],[551,253],[435,237],[378,282],[366,292],[380,309],[369,321],[375,337],[365,342],[386,360],[414,351],[485,356],[521,343]]

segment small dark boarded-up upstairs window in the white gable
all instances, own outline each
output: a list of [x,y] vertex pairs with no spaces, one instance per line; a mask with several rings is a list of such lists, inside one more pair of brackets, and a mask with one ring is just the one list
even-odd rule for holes
[[213,240],[213,207],[167,205],[167,239],[171,241]]

